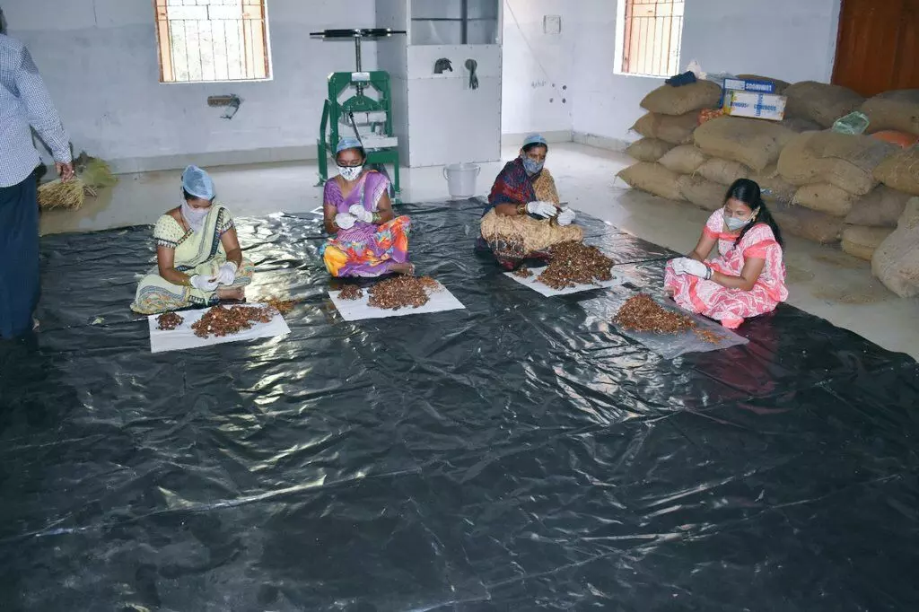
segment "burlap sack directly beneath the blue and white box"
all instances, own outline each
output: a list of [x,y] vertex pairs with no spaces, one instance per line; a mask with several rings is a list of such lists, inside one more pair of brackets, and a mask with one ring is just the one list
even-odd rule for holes
[[693,136],[703,153],[760,171],[778,161],[778,154],[796,134],[772,121],[720,117],[700,125]]

